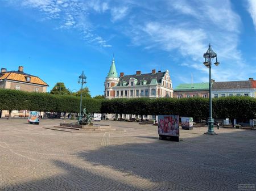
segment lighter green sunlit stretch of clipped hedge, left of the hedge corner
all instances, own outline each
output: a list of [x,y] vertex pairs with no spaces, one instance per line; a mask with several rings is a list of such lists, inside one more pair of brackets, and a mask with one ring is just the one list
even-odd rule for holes
[[[24,92],[0,89],[0,109],[44,111],[44,112],[79,112],[80,97],[72,95],[52,95],[48,93]],[[82,99],[82,108],[88,112],[99,113],[100,99]]]

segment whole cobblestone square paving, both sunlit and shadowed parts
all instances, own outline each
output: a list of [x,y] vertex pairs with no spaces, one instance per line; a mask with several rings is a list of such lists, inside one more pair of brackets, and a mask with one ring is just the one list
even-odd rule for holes
[[[0,190],[238,190],[256,184],[256,131],[180,130],[101,121],[116,131],[45,129],[63,120],[0,119]],[[254,186],[255,188],[255,186]]]

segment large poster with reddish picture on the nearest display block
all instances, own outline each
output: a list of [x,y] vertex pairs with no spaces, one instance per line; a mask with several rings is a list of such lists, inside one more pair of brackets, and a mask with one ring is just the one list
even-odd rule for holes
[[158,116],[158,134],[179,137],[179,116]]

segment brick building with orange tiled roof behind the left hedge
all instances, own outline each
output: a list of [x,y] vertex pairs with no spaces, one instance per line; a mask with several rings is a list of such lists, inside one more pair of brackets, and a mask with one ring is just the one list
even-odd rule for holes
[[[7,69],[1,68],[0,88],[29,92],[46,92],[47,87],[48,84],[39,77],[24,73],[23,66],[19,66],[17,71],[7,71]],[[0,111],[0,117],[6,116],[8,113],[7,111]],[[24,111],[12,111],[11,116],[22,115],[23,113]]]

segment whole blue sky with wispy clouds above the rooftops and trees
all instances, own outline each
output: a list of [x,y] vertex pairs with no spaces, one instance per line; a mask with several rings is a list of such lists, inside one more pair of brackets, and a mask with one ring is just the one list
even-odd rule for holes
[[0,67],[104,94],[113,53],[117,72],[169,70],[173,86],[256,78],[256,0],[0,0]]

